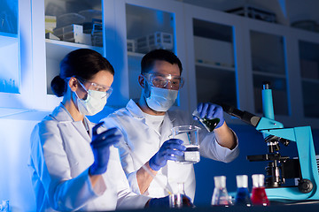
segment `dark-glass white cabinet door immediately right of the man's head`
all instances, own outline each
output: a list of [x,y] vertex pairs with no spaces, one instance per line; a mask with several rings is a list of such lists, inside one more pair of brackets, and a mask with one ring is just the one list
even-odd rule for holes
[[236,41],[241,38],[236,18],[224,12],[185,5],[192,110],[198,102],[239,107],[238,72],[245,69],[243,60],[238,60],[243,54],[237,54],[240,46]]

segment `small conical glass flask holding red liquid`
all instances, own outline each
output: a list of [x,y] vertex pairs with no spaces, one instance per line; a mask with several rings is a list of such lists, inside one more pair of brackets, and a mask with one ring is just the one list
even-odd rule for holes
[[265,191],[263,174],[254,174],[253,178],[253,191],[252,191],[252,203],[253,205],[268,206],[269,201]]

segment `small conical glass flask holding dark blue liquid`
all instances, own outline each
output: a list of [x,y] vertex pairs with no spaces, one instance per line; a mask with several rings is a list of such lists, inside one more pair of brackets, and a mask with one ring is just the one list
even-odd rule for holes
[[248,191],[248,176],[247,175],[237,175],[237,194],[235,199],[235,205],[240,206],[252,206],[250,200],[250,195]]

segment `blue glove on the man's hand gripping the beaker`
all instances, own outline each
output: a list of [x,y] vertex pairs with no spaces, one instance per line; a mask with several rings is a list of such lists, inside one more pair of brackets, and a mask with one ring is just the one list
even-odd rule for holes
[[163,143],[159,151],[149,161],[152,170],[159,170],[167,164],[167,160],[175,161],[175,155],[183,155],[186,148],[182,145],[183,140],[170,139]]

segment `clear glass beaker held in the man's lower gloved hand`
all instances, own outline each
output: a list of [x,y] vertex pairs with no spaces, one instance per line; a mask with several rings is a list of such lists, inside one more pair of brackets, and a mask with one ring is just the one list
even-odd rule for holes
[[177,163],[198,163],[199,155],[199,137],[200,128],[194,125],[180,125],[172,128],[172,138],[183,140],[186,150],[183,155],[175,155]]

